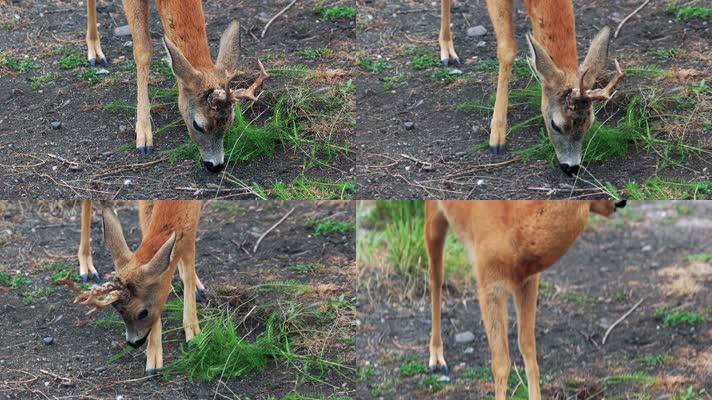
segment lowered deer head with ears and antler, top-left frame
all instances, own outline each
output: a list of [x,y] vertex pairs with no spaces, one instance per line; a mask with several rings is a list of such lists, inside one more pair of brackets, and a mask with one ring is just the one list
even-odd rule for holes
[[164,38],[169,63],[178,81],[178,108],[190,138],[198,145],[203,165],[210,172],[225,168],[223,138],[235,119],[232,104],[256,101],[255,90],[271,77],[260,65],[260,77],[248,89],[230,89],[240,58],[240,24],[237,21],[223,32],[218,58],[210,71],[195,69],[181,50]]

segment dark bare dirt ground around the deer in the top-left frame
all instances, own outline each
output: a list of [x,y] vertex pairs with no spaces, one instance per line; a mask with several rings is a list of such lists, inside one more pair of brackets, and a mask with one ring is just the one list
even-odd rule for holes
[[[153,2],[150,11],[153,60],[165,56],[160,40],[163,29]],[[255,57],[269,68],[303,65],[312,69],[339,70],[342,76],[330,83],[314,82],[308,90],[344,84],[351,66],[349,49],[355,37],[355,21],[337,19],[321,21],[314,3],[299,2],[277,19],[263,39],[258,39],[267,20],[287,3],[283,1],[210,1],[203,8],[207,21],[208,41],[217,53],[220,34],[232,18],[242,26],[240,68],[249,71],[245,80],[257,76]],[[166,104],[152,112],[153,130],[170,123],[177,125],[155,135],[154,152],[142,156],[132,148],[135,139],[135,111],[102,111],[111,101],[135,104],[135,70],[126,70],[133,60],[132,48],[126,45],[130,36],[115,36],[114,28],[126,24],[121,2],[100,1],[97,8],[99,33],[104,53],[111,65],[105,67],[108,79],[90,86],[77,78],[89,70],[88,64],[71,70],[60,69],[57,61],[65,52],[85,58],[86,7],[77,1],[12,1],[0,6],[5,29],[0,30],[0,52],[22,59],[29,56],[38,68],[29,72],[0,72],[0,197],[2,198],[205,198],[220,196],[254,197],[253,183],[269,189],[276,182],[292,183],[300,175],[313,180],[346,182],[353,179],[353,157],[348,153],[351,128],[344,126],[348,107],[334,111],[331,141],[346,150],[337,152],[324,163],[311,165],[308,155],[288,144],[277,144],[274,153],[246,162],[231,162],[223,174],[212,174],[193,160],[169,163],[167,150],[187,139],[175,100],[156,100]],[[329,57],[314,59],[300,50],[326,48]],[[103,66],[101,66],[103,67]],[[156,72],[156,68],[152,68]],[[44,89],[31,88],[30,77],[59,74]],[[175,78],[170,71],[155,74],[149,87],[171,88]],[[264,99],[287,90],[295,90],[293,76],[275,76],[264,85]],[[255,105],[247,120],[267,111],[264,102]],[[345,114],[344,114],[345,113]],[[343,115],[341,115],[343,114]],[[338,117],[338,118],[337,118]],[[348,119],[348,118],[347,118]],[[51,122],[61,122],[53,130]],[[258,123],[259,123],[258,119]],[[122,147],[123,146],[123,147]],[[59,158],[50,156],[56,155]],[[142,164],[142,165],[136,165]],[[241,183],[236,183],[241,182]],[[269,194],[269,191],[268,191]],[[346,193],[346,197],[353,191]],[[317,194],[316,198],[319,197]]]

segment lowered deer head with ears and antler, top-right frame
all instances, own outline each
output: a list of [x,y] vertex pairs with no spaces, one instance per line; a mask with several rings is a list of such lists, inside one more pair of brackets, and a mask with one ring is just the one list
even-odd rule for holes
[[541,112],[546,131],[554,145],[559,167],[569,175],[578,173],[581,147],[594,120],[593,102],[608,100],[624,73],[615,62],[617,75],[604,89],[593,90],[596,78],[608,59],[610,30],[604,27],[594,37],[588,54],[576,73],[561,71],[544,47],[531,35],[529,64],[541,81]]

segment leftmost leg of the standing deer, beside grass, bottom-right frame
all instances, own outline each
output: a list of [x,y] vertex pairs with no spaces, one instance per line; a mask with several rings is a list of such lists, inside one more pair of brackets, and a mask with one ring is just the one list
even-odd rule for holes
[[435,203],[425,205],[425,247],[428,252],[428,269],[430,271],[430,312],[432,330],[430,332],[430,372],[440,368],[448,372],[443,351],[442,327],[440,321],[442,304],[442,285],[444,277],[443,248],[447,235],[448,223],[445,216],[437,210]]

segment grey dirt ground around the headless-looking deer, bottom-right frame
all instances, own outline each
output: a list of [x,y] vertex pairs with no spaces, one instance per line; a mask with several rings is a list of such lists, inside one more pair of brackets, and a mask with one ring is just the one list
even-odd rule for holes
[[[536,322],[542,398],[708,399],[712,202],[629,202],[624,211],[617,219],[594,220],[569,253],[542,274]],[[436,391],[433,382],[441,375],[424,372],[428,294],[409,299],[401,277],[376,284],[378,277],[370,273],[361,272],[359,291],[358,363],[365,378],[357,397],[493,395],[489,348],[472,282],[448,282],[446,277],[442,325],[450,381]],[[427,279],[425,272],[422,279]],[[601,344],[606,329],[640,299],[641,305]],[[697,324],[668,326],[664,318],[672,311],[704,317]],[[511,305],[509,315],[510,354],[524,376]],[[455,335],[466,331],[474,339],[456,343]],[[403,372],[407,363],[411,370],[416,363],[420,372]],[[688,397],[673,395],[689,387],[694,393]],[[707,394],[699,394],[703,389]]]

